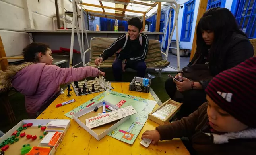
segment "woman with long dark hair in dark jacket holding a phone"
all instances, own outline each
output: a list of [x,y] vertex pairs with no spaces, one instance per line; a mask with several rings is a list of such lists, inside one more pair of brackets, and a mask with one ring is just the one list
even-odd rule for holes
[[[246,34],[239,30],[236,19],[226,8],[212,8],[200,19],[197,29],[196,53],[188,66],[209,64],[212,77],[240,64],[253,56],[254,50]],[[182,71],[175,76],[184,80],[176,82],[169,78],[165,90],[170,98],[183,102],[180,117],[188,116],[206,102],[206,89],[211,79],[192,82]]]

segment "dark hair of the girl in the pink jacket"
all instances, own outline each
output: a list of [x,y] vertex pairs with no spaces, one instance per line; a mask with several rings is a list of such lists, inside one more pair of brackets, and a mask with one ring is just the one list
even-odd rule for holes
[[50,49],[49,45],[46,45],[45,43],[37,43],[33,42],[27,47],[23,48],[22,54],[24,56],[24,60],[27,62],[37,62],[38,57],[37,54],[39,52],[42,52],[43,55],[45,55],[46,51]]

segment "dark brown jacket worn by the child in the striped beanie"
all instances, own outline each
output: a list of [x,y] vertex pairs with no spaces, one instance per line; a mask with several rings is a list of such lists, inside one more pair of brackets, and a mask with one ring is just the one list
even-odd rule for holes
[[241,132],[213,134],[206,130],[207,103],[179,121],[156,127],[161,140],[188,137],[200,155],[256,155],[256,129]]

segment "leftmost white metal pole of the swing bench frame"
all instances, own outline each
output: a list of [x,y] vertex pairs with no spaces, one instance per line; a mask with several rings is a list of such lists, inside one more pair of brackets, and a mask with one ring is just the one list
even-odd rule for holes
[[72,2],[73,7],[73,18],[72,18],[72,30],[71,30],[71,43],[70,43],[70,57],[69,66],[72,67],[73,62],[73,47],[74,47],[74,35],[75,35],[75,21],[76,21],[76,1]]

